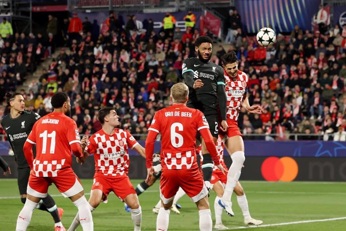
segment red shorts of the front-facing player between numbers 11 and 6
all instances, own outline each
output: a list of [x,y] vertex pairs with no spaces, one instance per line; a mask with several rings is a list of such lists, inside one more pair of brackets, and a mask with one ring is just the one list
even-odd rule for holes
[[[124,200],[129,194],[136,194],[130,179],[127,175],[123,176],[105,176],[100,174],[94,175],[94,183],[91,190],[100,189],[105,197],[113,191],[121,200]],[[105,198],[103,198],[105,200]]]

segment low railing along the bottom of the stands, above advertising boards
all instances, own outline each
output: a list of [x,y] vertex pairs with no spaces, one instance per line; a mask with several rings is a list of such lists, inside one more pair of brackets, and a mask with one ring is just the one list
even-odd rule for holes
[[[80,134],[84,136],[84,134]],[[145,140],[147,134],[132,134],[137,140]],[[301,140],[320,140],[330,141],[334,139],[333,134],[302,134],[302,133],[283,133],[283,134],[245,134],[244,140],[263,140],[263,141],[301,141]],[[90,135],[89,135],[90,137]],[[0,142],[7,141],[6,135],[0,135]]]

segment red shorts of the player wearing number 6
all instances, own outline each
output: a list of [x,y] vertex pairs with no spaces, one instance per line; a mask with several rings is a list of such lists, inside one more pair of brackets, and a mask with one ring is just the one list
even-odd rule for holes
[[208,195],[199,168],[196,169],[163,169],[160,180],[161,199],[167,204],[176,195],[179,187],[197,202]]

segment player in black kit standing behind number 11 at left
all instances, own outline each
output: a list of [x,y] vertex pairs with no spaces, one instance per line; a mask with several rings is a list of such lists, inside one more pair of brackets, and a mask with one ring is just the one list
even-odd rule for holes
[[[11,107],[11,112],[3,117],[1,125],[5,129],[13,152],[15,153],[18,166],[18,188],[21,201],[25,204],[30,167],[24,156],[23,146],[34,124],[41,117],[38,113],[24,110],[24,97],[20,93],[7,93],[6,97],[7,104]],[[63,226],[61,224],[61,216],[64,210],[62,208],[57,208],[54,199],[49,194],[47,197],[42,198],[37,208],[51,213],[55,227],[60,228],[59,226]],[[58,230],[60,231],[61,229]]]

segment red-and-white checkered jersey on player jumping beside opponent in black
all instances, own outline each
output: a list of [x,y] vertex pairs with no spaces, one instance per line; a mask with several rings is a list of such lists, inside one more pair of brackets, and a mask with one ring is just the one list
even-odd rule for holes
[[244,94],[247,93],[249,77],[244,72],[238,71],[237,80],[234,81],[225,71],[225,83],[227,119],[237,121]]

